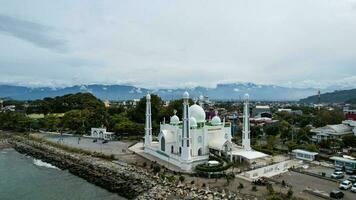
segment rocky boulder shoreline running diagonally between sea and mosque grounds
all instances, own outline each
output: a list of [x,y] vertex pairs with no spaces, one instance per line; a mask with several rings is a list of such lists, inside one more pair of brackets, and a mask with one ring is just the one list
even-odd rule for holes
[[256,199],[253,196],[172,183],[136,166],[68,153],[22,137],[14,137],[9,143],[20,153],[68,170],[88,182],[128,199]]

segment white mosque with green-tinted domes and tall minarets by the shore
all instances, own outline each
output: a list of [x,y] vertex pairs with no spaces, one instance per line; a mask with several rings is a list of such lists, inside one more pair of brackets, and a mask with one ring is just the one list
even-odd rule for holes
[[164,160],[182,171],[191,172],[209,160],[210,152],[229,156],[231,160],[255,160],[267,156],[250,147],[249,98],[245,96],[242,146],[231,142],[231,124],[218,115],[206,120],[202,101],[189,106],[189,94],[183,94],[183,118],[174,112],[169,124],[160,125],[158,142],[152,141],[151,96],[146,96],[144,152]]

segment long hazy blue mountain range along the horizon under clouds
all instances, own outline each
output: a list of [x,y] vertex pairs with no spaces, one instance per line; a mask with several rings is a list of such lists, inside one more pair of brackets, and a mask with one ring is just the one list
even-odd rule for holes
[[[0,97],[16,100],[35,100],[45,97],[62,96],[65,94],[90,92],[100,99],[128,100],[141,98],[148,92],[163,99],[181,98],[186,89],[155,89],[139,88],[127,85],[80,85],[65,88],[0,85]],[[254,100],[299,100],[317,92],[316,89],[287,88],[275,85],[257,85],[253,83],[218,84],[215,88],[195,87],[187,89],[191,97],[208,96],[215,100],[237,100],[249,93]]]

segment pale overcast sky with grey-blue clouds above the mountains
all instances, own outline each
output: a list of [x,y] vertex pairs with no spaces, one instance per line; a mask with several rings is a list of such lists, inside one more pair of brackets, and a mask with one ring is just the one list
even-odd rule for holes
[[0,0],[0,84],[356,87],[356,0]]

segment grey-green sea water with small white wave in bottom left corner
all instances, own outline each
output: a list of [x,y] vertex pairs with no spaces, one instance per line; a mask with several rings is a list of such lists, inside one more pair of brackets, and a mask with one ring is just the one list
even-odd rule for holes
[[123,200],[68,171],[0,149],[0,200]]

